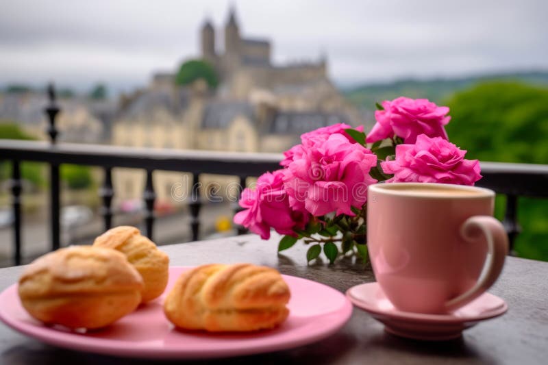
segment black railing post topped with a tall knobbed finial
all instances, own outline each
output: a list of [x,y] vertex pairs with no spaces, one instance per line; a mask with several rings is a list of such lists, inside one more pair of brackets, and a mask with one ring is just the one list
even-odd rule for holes
[[[57,142],[58,130],[55,129],[55,118],[59,113],[59,107],[55,103],[55,88],[53,84],[49,84],[47,88],[47,94],[49,99],[49,105],[45,108],[45,113],[48,117],[49,127],[47,128],[47,134],[49,134],[51,144]],[[50,164],[49,170],[49,184],[50,184],[50,216],[51,216],[51,249],[56,250],[60,247],[60,181],[59,181],[59,165]]]

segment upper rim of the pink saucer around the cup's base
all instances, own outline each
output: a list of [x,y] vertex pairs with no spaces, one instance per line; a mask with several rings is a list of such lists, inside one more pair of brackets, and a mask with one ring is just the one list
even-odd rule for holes
[[396,308],[394,308],[394,310],[397,312],[378,310],[376,307],[375,308],[371,307],[371,305],[368,305],[368,303],[362,301],[361,299],[353,297],[353,295],[351,294],[352,290],[356,290],[357,288],[363,287],[363,286],[377,286],[379,290],[382,291],[382,288],[379,286],[379,283],[377,281],[352,286],[345,292],[347,298],[351,301],[351,303],[354,306],[360,308],[360,310],[363,310],[364,312],[367,312],[369,314],[375,314],[375,316],[382,316],[384,318],[389,318],[391,320],[402,320],[402,321],[415,322],[415,323],[436,323],[436,324],[477,323],[481,320],[487,320],[490,318],[501,316],[502,314],[505,314],[508,311],[508,304],[506,303],[506,301],[504,301],[504,299],[502,299],[501,297],[497,297],[497,295],[495,294],[491,294],[490,292],[484,292],[478,298],[481,298],[485,295],[489,295],[491,297],[500,299],[502,301],[502,305],[497,306],[493,309],[487,310],[487,312],[478,316],[455,316],[454,314],[429,314],[429,313],[404,312],[402,310],[397,310]]

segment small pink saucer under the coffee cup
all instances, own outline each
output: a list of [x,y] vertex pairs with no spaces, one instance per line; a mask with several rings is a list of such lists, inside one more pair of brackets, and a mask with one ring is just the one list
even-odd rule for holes
[[421,314],[397,310],[386,298],[378,283],[353,286],[347,297],[360,309],[380,322],[396,336],[416,340],[451,340],[462,336],[462,330],[480,320],[504,314],[508,305],[499,297],[484,293],[451,314]]

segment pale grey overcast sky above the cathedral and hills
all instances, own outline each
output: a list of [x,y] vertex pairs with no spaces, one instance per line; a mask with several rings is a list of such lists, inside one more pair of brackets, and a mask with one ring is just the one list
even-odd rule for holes
[[199,55],[203,19],[221,29],[231,3],[275,62],[325,52],[338,84],[548,70],[544,0],[3,0],[0,85],[145,85]]

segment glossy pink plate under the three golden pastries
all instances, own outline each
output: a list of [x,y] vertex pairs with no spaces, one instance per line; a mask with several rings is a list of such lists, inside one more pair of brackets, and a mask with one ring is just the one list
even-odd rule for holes
[[100,331],[79,333],[42,325],[21,306],[17,284],[0,294],[0,319],[27,336],[67,349],[127,357],[189,359],[299,347],[332,335],[352,314],[351,303],[337,290],[315,281],[283,275],[291,290],[290,314],[276,329],[222,334],[179,331],[164,316],[162,303],[177,277],[189,268],[171,267],[169,284],[162,297]]

